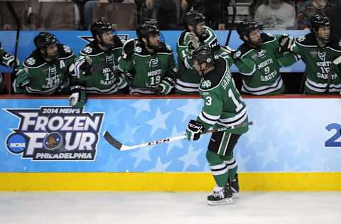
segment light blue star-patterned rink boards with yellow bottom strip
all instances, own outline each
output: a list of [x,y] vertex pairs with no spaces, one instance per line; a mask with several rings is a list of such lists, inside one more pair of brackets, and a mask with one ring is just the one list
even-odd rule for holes
[[[244,191],[340,191],[341,97],[245,97],[254,122],[234,150]],[[118,151],[184,133],[199,97],[1,97],[0,191],[210,191],[209,137]]]

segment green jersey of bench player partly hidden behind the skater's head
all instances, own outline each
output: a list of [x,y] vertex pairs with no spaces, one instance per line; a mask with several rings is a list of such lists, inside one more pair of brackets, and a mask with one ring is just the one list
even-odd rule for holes
[[[204,27],[204,34],[199,39],[200,46],[209,46],[214,50],[219,49],[215,32],[208,26]],[[188,49],[190,32],[183,31],[178,38],[176,50],[178,53],[178,75],[175,80],[175,92],[180,94],[197,94],[201,77],[192,68],[191,49]]]

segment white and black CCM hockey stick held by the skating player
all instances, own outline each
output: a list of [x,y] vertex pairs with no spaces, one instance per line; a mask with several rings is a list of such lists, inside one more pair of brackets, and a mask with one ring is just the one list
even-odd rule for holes
[[[253,122],[247,122],[247,123],[242,123],[242,124],[237,124],[237,125],[232,125],[230,127],[222,127],[219,129],[213,129],[207,132],[202,132],[202,134],[209,134],[209,133],[214,133],[214,132],[223,132],[227,129],[236,129],[239,127],[246,127],[248,125],[252,125]],[[111,144],[112,146],[114,146],[116,149],[119,149],[120,151],[126,151],[126,150],[130,150],[130,149],[137,149],[137,148],[141,148],[141,147],[145,147],[145,146],[153,146],[155,144],[161,144],[161,143],[165,143],[165,142],[173,142],[173,141],[177,141],[180,139],[186,139],[186,135],[180,135],[180,136],[176,136],[176,137],[168,137],[165,139],[158,139],[156,141],[152,141],[152,142],[146,142],[143,144],[136,144],[133,146],[127,146],[125,144],[122,144],[121,142],[119,142],[117,139],[115,139],[114,137],[112,137],[112,135],[108,132],[105,131],[103,134],[104,139],[107,140],[107,142],[109,142],[109,144]]]

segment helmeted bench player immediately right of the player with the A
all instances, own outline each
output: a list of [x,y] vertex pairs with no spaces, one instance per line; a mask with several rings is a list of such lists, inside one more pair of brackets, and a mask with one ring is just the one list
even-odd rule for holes
[[[91,33],[94,41],[82,48],[71,73],[77,83],[74,88],[94,94],[118,92],[127,85],[124,74],[118,69],[123,46],[121,40],[113,34],[112,24],[105,21],[92,23]],[[77,94],[72,94],[70,99],[82,97]],[[84,101],[70,100],[72,106],[82,106],[80,102]]]

